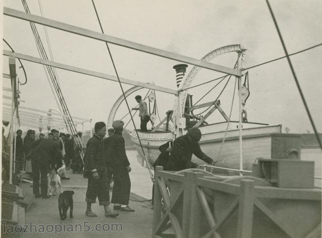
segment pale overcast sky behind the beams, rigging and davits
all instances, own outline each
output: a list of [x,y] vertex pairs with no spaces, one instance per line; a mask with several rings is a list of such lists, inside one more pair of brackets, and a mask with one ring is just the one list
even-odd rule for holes
[[[99,24],[90,0],[40,0],[44,17],[78,27],[100,32]],[[38,0],[27,0],[32,14],[40,16]],[[95,4],[105,34],[201,59],[212,50],[230,44],[241,44],[246,51],[245,67],[284,56],[284,51],[265,1],[244,0],[209,1],[103,1]],[[270,1],[289,53],[322,43],[322,2]],[[5,0],[4,6],[24,11],[20,0]],[[29,23],[4,16],[4,38],[19,53],[38,56]],[[47,49],[44,28],[37,25]],[[54,61],[115,75],[106,46],[103,42],[47,28]],[[134,50],[110,45],[120,77],[176,89],[175,71],[180,62],[148,55]],[[7,46],[4,49],[8,50]],[[322,47],[291,57],[299,83],[314,119],[316,128],[322,131]],[[233,67],[236,54],[215,58],[213,63]],[[42,65],[23,62],[28,82],[20,87],[21,105],[48,110],[58,109]],[[8,57],[4,57],[3,71],[9,73]],[[189,65],[187,73],[193,66]],[[24,81],[22,69],[18,77]],[[116,98],[121,95],[117,82],[57,69],[62,93],[73,116],[92,118],[93,122],[107,121]],[[218,76],[221,73],[201,70],[193,85]],[[234,78],[219,98],[221,106],[229,113]],[[191,90],[197,101],[216,82]],[[286,59],[249,70],[250,97],[246,104],[251,122],[283,125],[290,133],[312,133],[299,92]],[[10,87],[8,80],[3,86]],[[223,85],[209,93],[200,103],[214,100]],[[124,89],[130,88],[124,84]],[[146,89],[138,91],[145,95]],[[4,94],[9,95],[9,92]],[[134,94],[128,98],[130,107],[136,105]],[[161,118],[173,108],[175,96],[156,92]],[[237,97],[235,97],[235,100]],[[121,105],[117,118],[127,113]],[[237,101],[233,103],[232,120],[238,118]],[[127,123],[129,117],[125,117]],[[210,122],[221,121],[218,112]],[[135,116],[139,126],[139,117]],[[133,128],[132,125],[129,129]],[[85,125],[89,130],[89,125]]]

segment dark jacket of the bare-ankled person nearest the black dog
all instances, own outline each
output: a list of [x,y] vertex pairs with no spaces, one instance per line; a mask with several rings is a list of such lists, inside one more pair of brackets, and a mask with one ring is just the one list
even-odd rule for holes
[[106,170],[106,157],[103,138],[94,134],[87,142],[85,151],[85,170],[95,172]]

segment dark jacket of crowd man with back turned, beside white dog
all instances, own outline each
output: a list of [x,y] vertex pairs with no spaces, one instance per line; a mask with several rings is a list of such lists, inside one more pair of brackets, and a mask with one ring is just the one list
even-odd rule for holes
[[33,157],[31,158],[34,162],[41,166],[45,166],[46,169],[50,168],[50,162],[57,156],[58,151],[57,143],[50,139],[37,140],[31,144],[33,149]]

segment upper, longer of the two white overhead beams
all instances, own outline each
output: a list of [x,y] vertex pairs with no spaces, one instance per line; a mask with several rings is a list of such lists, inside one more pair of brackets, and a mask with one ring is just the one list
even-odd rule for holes
[[85,29],[85,28],[72,26],[72,25],[69,25],[69,24],[65,24],[65,23],[61,23],[61,22],[58,22],[58,21],[48,19],[48,18],[43,18],[43,17],[40,17],[40,16],[28,14],[28,13],[21,12],[21,11],[17,11],[17,10],[14,10],[14,9],[4,8],[4,15],[14,17],[14,18],[18,18],[18,19],[22,19],[22,20],[26,20],[26,21],[29,21],[29,22],[38,23],[38,24],[41,24],[41,25],[44,25],[44,26],[52,27],[52,28],[55,28],[55,29],[59,29],[59,30],[62,30],[62,31],[70,32],[70,33],[85,36],[85,37],[89,37],[89,38],[96,39],[96,40],[99,40],[99,41],[108,42],[108,43],[111,43],[111,44],[123,46],[123,47],[130,48],[130,49],[133,49],[133,50],[138,50],[138,51],[145,52],[145,53],[148,53],[148,54],[157,55],[157,56],[164,57],[164,58],[167,58],[167,59],[177,60],[179,62],[196,65],[196,66],[199,66],[199,67],[202,67],[202,68],[218,71],[218,72],[221,72],[221,73],[232,74],[232,75],[239,76],[239,77],[241,76],[241,71],[238,70],[238,69],[232,69],[232,68],[224,67],[224,66],[221,66],[221,65],[208,63],[208,62],[197,60],[197,59],[194,59],[194,58],[191,58],[191,57],[188,57],[188,56],[183,56],[183,55],[179,55],[179,54],[176,54],[176,53],[173,53],[173,52],[170,52],[170,51],[160,50],[160,49],[157,49],[157,48],[142,45],[142,44],[135,43],[135,42],[128,41],[128,40],[124,40],[124,39],[121,39],[121,38],[108,36],[108,35],[98,33],[98,32],[95,32],[95,31],[91,31],[91,30],[88,30],[88,29]]

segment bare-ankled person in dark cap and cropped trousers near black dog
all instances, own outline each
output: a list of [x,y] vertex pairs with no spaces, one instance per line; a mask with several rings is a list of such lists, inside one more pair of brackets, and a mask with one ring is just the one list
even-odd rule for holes
[[111,211],[110,193],[107,179],[107,161],[105,157],[103,138],[106,134],[106,125],[104,122],[95,124],[94,136],[88,141],[85,152],[85,170],[89,171],[88,187],[86,192],[87,216],[97,216],[92,212],[92,203],[96,202],[98,197],[100,205],[104,206],[106,217],[116,217],[119,213]]

